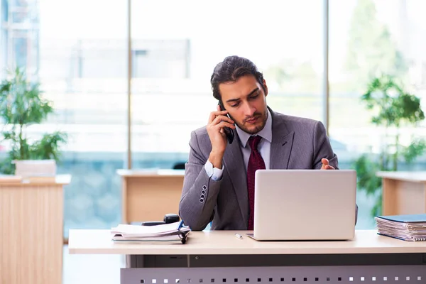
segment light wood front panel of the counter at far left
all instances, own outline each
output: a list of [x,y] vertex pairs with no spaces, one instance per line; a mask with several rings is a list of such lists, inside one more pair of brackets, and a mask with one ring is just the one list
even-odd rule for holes
[[62,283],[62,185],[0,185],[0,283]]

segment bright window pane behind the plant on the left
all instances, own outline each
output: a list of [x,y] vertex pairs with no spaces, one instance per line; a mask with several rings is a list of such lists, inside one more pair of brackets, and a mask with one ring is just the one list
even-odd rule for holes
[[121,201],[115,171],[124,167],[126,152],[126,6],[100,0],[0,3],[0,75],[6,67],[25,67],[55,108],[28,134],[60,130],[69,136],[58,164],[58,173],[72,174],[65,188],[65,237],[72,228],[116,225]]

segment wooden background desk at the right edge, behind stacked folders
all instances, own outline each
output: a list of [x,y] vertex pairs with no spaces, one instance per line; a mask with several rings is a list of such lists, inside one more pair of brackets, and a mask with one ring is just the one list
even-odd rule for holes
[[383,215],[426,213],[426,172],[378,172]]

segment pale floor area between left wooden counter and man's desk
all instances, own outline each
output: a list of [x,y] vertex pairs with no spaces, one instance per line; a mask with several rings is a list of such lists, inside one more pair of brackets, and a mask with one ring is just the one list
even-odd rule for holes
[[109,254],[70,254],[64,246],[63,284],[119,284],[124,256]]

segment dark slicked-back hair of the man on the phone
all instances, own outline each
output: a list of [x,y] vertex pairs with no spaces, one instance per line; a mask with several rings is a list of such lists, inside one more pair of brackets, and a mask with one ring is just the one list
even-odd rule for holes
[[258,71],[256,65],[246,58],[232,55],[226,57],[224,61],[219,62],[214,67],[212,78],[210,79],[213,97],[221,101],[222,96],[219,92],[219,84],[236,82],[236,80],[245,75],[253,75],[257,82],[261,84],[263,91],[265,91],[265,87],[263,87],[263,74]]

